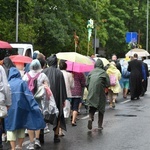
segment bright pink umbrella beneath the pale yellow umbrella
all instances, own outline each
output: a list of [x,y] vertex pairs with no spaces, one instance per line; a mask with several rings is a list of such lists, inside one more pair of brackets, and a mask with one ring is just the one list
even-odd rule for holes
[[94,62],[92,65],[86,65],[86,64],[66,61],[66,64],[67,64],[67,70],[73,72],[89,72],[94,69]]

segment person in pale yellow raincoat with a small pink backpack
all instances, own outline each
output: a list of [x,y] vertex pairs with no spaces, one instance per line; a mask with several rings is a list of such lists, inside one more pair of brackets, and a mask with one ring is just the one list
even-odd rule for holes
[[[116,68],[116,64],[112,61],[107,69],[107,74],[110,78],[110,86],[108,88],[108,99],[110,108],[115,108],[115,102],[118,96],[118,93],[121,91],[119,80],[121,79],[121,73]],[[111,83],[112,80],[115,80],[115,84]]]

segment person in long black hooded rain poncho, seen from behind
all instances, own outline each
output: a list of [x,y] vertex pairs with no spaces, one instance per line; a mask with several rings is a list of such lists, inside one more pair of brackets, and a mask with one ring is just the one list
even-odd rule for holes
[[48,68],[45,68],[43,72],[47,75],[50,83],[51,91],[54,95],[57,108],[59,110],[59,116],[57,122],[53,124],[54,130],[54,143],[60,142],[58,137],[59,128],[66,131],[66,123],[63,113],[63,107],[67,98],[66,85],[63,73],[57,68],[57,57],[52,55],[47,58]]

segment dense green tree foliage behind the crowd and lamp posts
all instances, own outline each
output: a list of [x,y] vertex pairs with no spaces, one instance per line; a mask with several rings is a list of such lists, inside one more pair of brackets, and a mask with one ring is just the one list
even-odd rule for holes
[[[16,0],[0,0],[0,38],[15,41]],[[19,0],[19,42],[32,42],[46,56],[60,51],[75,51],[74,33],[79,37],[77,52],[87,54],[87,21],[94,26],[89,43],[100,41],[109,57],[124,57],[126,32],[140,32],[140,45],[146,47],[146,0]]]

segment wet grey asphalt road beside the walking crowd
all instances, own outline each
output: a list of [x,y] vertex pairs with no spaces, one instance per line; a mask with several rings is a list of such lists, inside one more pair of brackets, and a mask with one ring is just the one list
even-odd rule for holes
[[[67,121],[67,132],[60,143],[53,143],[53,131],[45,134],[42,150],[149,150],[150,149],[150,87],[140,100],[124,100],[119,94],[115,109],[106,106],[104,129],[97,129],[97,114],[93,129],[87,129],[88,114],[85,108],[78,115],[77,126]],[[130,96],[129,96],[130,97]],[[29,138],[26,137],[23,150]],[[8,149],[8,144],[5,144]]]

